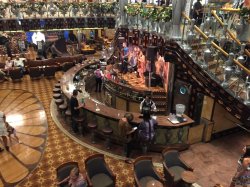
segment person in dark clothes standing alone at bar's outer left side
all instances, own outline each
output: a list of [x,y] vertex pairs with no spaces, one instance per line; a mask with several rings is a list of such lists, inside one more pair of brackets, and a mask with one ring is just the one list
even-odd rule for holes
[[73,90],[73,94],[70,98],[70,110],[71,110],[71,118],[72,118],[72,129],[75,133],[79,131],[77,127],[77,123],[75,122],[74,118],[79,117],[80,115],[80,108],[84,106],[84,104],[79,105],[77,100],[78,90]]

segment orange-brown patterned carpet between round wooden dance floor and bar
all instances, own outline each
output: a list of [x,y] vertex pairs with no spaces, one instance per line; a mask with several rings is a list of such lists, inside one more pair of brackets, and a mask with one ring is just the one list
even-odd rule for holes
[[[77,161],[84,170],[84,159],[94,152],[87,149],[64,135],[57,128],[50,116],[50,102],[54,84],[61,77],[61,72],[56,74],[55,79],[41,78],[30,80],[24,76],[21,82],[5,81],[0,83],[1,89],[23,89],[34,93],[43,103],[48,120],[48,139],[46,150],[37,168],[25,178],[18,186],[56,186],[56,168],[64,162]],[[111,170],[117,175],[117,186],[131,187],[133,185],[132,165],[125,164],[110,157],[105,157]],[[118,172],[119,171],[119,172]]]

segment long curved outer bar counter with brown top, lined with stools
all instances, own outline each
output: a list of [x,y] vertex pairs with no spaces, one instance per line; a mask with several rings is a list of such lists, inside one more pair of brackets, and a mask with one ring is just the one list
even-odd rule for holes
[[[64,73],[61,79],[61,89],[63,94],[70,99],[72,91],[75,89],[73,79],[77,73],[82,69],[94,65],[94,62],[86,62],[82,65],[76,65]],[[81,102],[81,98],[79,103]],[[88,96],[84,99],[85,106],[83,107],[83,115],[87,118],[87,122],[95,122],[98,125],[97,130],[99,132],[105,126],[109,126],[113,129],[112,139],[116,139],[119,142],[119,127],[118,121],[127,111],[117,110],[106,106],[105,104],[95,100]],[[99,110],[98,110],[98,109]],[[134,115],[132,121],[133,125],[139,125],[142,121],[140,113],[131,112]],[[183,123],[173,124],[168,120],[168,116],[155,116],[158,126],[156,129],[156,139],[154,144],[169,145],[169,144],[187,144],[187,136],[189,127],[194,122],[191,118],[184,115],[186,121]]]

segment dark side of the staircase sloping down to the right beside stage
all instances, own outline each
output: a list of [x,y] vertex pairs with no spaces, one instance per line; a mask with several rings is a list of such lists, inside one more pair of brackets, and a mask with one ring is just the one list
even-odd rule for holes
[[229,87],[223,88],[221,86],[224,80],[223,61],[220,63],[209,62],[208,69],[204,70],[176,42],[169,41],[166,44],[166,51],[169,59],[172,59],[181,68],[188,79],[196,83],[200,92],[212,97],[244,125],[250,126],[250,107],[243,102],[245,98],[244,80],[232,75],[228,81]]

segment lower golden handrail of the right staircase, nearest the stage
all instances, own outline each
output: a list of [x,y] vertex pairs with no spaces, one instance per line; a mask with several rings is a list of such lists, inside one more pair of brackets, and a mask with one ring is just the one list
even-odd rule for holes
[[[184,17],[184,18],[186,18],[188,21],[191,21],[191,19],[184,13],[184,12],[182,12],[182,16]],[[205,40],[207,40],[208,39],[208,36],[204,33],[204,32],[202,32],[201,30],[200,30],[200,28],[199,27],[197,27],[196,25],[194,26],[194,29],[205,39]],[[214,42],[212,42],[212,46],[214,47],[214,48],[216,48],[217,50],[219,50],[223,55],[225,55],[226,57],[228,57],[228,53],[226,52],[226,51],[224,51],[221,47],[219,47],[216,43],[214,43]],[[239,67],[241,67],[248,75],[250,75],[250,70],[249,69],[247,69],[245,66],[243,66],[241,63],[239,63],[237,60],[235,60],[234,59],[234,63],[236,64],[236,65],[238,65]]]

